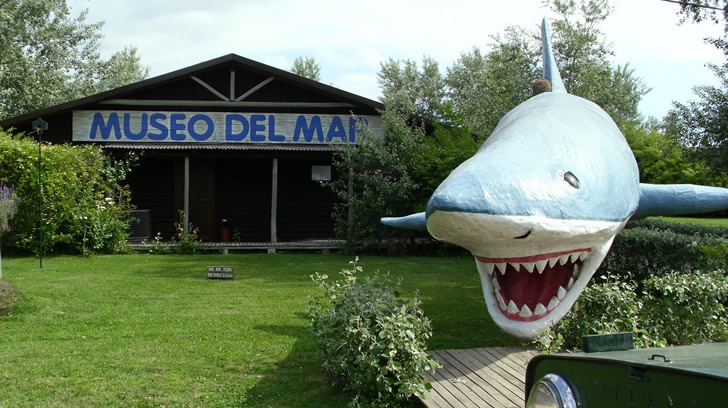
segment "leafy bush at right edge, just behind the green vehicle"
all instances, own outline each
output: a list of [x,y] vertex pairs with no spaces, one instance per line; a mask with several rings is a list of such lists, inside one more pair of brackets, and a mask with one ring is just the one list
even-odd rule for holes
[[643,282],[645,328],[669,344],[728,341],[725,272],[669,273]]

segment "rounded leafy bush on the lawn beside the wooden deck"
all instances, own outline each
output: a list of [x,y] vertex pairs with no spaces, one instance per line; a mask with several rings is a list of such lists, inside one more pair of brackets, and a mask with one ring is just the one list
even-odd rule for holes
[[432,328],[419,300],[398,299],[378,273],[357,281],[362,268],[357,260],[350,264],[341,280],[311,276],[324,289],[309,303],[324,369],[354,393],[354,406],[400,406],[413,395],[424,396],[430,387],[421,374],[439,364],[425,352]]

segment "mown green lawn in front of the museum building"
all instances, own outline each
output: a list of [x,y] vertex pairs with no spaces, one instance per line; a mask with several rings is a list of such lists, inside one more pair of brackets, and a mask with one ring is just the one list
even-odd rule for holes
[[[3,257],[22,296],[0,318],[0,407],[343,407],[306,323],[316,254]],[[470,257],[362,257],[419,289],[430,349],[517,345],[488,317]],[[235,267],[234,281],[206,266]]]

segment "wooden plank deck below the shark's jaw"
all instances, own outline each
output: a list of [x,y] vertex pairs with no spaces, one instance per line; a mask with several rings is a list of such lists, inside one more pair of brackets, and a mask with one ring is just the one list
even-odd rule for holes
[[442,365],[428,372],[432,390],[422,400],[426,407],[522,408],[524,378],[532,349],[493,347],[431,351]]

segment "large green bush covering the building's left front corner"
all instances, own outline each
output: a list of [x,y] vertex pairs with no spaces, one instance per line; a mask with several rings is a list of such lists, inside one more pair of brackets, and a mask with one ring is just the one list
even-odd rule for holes
[[[134,159],[114,161],[91,145],[44,144],[42,149],[44,250],[80,252],[86,243],[94,251],[125,251],[131,205],[128,189],[119,183]],[[0,180],[14,185],[24,198],[7,243],[37,251],[37,142],[0,131]]]

